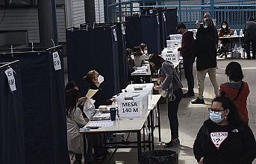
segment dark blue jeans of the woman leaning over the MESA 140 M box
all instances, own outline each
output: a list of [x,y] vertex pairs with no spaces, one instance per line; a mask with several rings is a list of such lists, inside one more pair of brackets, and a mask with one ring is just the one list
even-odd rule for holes
[[178,104],[181,102],[183,97],[182,89],[178,89],[173,91],[175,94],[175,100],[168,102],[168,118],[169,118],[169,125],[171,128],[171,136],[172,139],[178,138]]

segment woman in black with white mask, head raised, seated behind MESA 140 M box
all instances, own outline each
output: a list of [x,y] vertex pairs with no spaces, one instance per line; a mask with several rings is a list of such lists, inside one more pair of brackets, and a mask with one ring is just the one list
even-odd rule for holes
[[102,89],[99,88],[99,85],[104,81],[104,77],[99,75],[96,70],[90,70],[87,76],[84,76],[84,81],[89,84],[90,89],[98,90],[92,97],[95,100],[95,108],[99,108],[100,105],[111,105],[112,102],[116,102],[116,99],[105,98]]

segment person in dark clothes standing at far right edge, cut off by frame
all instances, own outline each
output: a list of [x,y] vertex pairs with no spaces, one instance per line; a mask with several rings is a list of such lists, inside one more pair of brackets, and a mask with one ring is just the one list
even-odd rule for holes
[[244,31],[245,31],[247,59],[251,59],[251,55],[250,55],[251,42],[252,42],[252,59],[255,59],[255,55],[256,55],[256,22],[253,21],[252,17],[249,18],[248,22],[246,22]]

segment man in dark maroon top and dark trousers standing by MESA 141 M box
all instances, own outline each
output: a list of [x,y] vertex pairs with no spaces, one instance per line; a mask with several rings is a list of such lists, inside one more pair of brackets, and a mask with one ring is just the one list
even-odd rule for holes
[[178,51],[181,52],[183,57],[183,65],[185,77],[187,79],[188,91],[183,97],[195,96],[194,94],[194,76],[193,76],[193,63],[195,62],[195,56],[193,55],[194,37],[193,32],[188,31],[185,24],[178,24],[177,30],[182,33],[182,43]]

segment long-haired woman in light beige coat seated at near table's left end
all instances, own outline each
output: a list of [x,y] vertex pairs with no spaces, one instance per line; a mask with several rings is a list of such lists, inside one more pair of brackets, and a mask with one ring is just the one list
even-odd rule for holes
[[75,153],[75,164],[80,164],[84,152],[84,137],[79,133],[87,122],[78,108],[79,91],[75,88],[66,91],[66,125],[68,149]]

